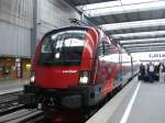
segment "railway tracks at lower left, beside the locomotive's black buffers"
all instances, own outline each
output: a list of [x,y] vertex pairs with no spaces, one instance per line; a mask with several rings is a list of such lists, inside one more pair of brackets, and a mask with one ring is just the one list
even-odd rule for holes
[[19,104],[18,96],[22,92],[21,88],[0,91],[0,123],[43,123],[42,111],[26,110]]

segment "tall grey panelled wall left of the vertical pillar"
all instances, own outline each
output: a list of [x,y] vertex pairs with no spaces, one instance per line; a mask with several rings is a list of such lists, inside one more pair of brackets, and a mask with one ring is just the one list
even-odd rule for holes
[[0,0],[0,55],[31,55],[33,0]]

